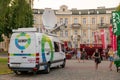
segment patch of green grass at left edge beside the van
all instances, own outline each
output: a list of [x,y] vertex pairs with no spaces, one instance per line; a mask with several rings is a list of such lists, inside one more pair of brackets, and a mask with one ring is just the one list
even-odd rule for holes
[[0,74],[8,74],[12,72],[8,68],[7,62],[8,62],[7,58],[0,58]]

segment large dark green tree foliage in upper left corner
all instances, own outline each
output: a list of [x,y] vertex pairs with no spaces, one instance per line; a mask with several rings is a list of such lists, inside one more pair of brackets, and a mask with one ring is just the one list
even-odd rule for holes
[[12,29],[32,25],[32,9],[26,0],[0,0],[0,41],[3,41],[2,34],[9,38]]

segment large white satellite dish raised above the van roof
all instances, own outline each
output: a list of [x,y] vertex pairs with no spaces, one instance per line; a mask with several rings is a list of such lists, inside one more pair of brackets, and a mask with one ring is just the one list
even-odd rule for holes
[[57,18],[54,11],[50,8],[45,9],[42,15],[43,25],[46,29],[52,29],[57,24]]

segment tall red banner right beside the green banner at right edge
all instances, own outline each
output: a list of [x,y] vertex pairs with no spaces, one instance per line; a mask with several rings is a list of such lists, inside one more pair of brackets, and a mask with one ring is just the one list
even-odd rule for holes
[[112,26],[109,27],[109,31],[110,31],[111,46],[113,50],[116,51],[117,50],[117,37],[116,35],[113,34]]

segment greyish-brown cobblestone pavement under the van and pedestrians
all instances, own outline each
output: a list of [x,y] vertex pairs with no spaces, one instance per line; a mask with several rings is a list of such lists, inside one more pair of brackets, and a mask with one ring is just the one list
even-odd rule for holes
[[77,60],[67,60],[64,69],[52,69],[49,74],[6,74],[0,75],[0,80],[120,80],[120,72],[108,69],[109,61],[102,61],[98,71],[95,71],[95,64],[92,60],[85,63],[78,63]]

